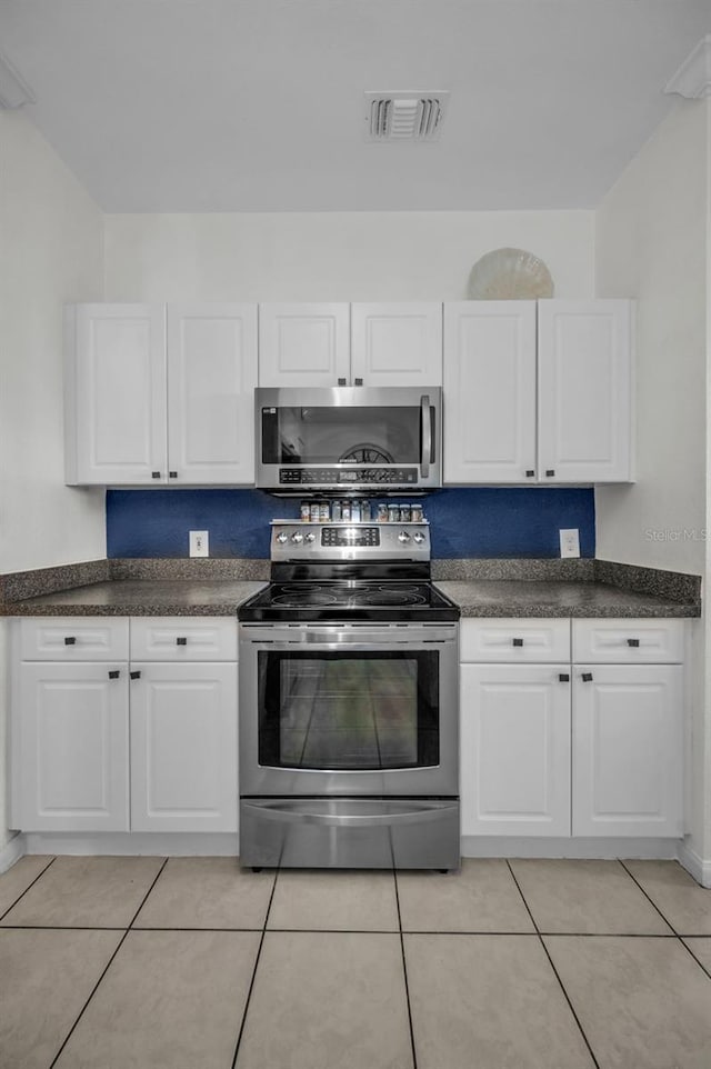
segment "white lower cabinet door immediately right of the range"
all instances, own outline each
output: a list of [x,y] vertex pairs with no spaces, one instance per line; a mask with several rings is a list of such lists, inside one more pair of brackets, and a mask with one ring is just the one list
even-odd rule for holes
[[569,665],[461,668],[462,835],[570,835]]

